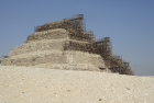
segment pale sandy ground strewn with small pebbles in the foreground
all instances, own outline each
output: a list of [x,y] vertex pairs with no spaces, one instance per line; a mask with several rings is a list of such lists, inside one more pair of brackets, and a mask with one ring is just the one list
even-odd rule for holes
[[154,78],[0,66],[0,103],[154,103]]

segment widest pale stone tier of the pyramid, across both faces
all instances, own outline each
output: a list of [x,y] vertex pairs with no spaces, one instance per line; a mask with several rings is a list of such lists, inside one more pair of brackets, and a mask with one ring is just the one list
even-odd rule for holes
[[100,55],[75,50],[37,50],[15,55],[2,60],[2,66],[35,66],[40,64],[91,64],[105,68],[105,61]]

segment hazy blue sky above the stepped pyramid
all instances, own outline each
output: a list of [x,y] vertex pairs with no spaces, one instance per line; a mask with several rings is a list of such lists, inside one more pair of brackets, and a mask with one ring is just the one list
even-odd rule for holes
[[135,76],[154,76],[154,0],[0,0],[0,57],[34,25],[84,14],[96,38],[110,37]]

